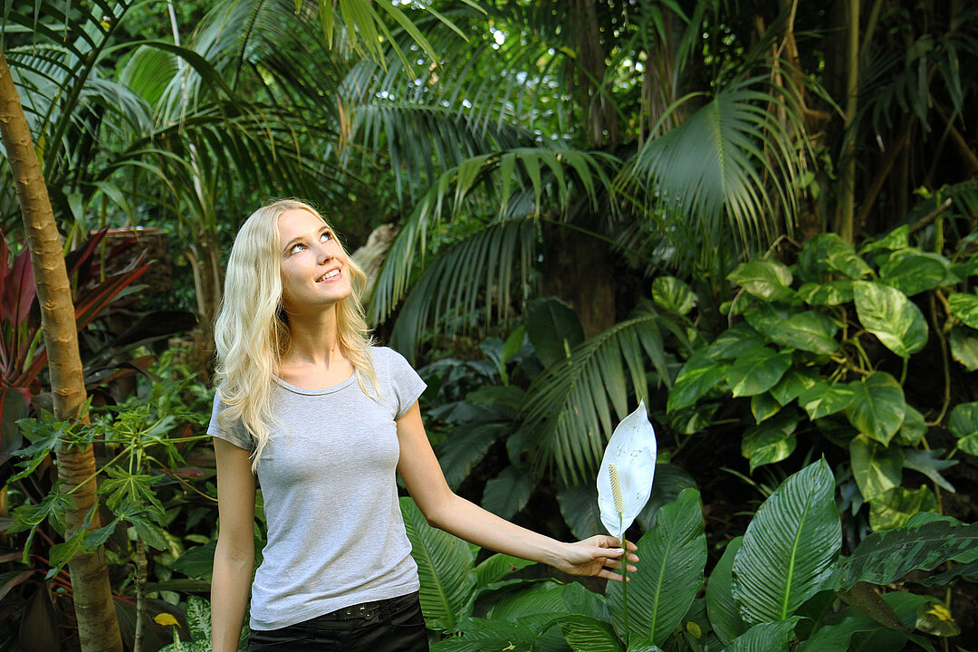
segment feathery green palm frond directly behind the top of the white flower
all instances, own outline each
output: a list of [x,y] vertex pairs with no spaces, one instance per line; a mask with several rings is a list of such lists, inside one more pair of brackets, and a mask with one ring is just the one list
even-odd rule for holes
[[620,420],[630,412],[630,395],[635,405],[646,398],[650,381],[670,383],[663,329],[686,341],[681,327],[643,303],[534,379],[521,429],[534,433],[538,470],[556,466],[570,484],[593,475],[613,430],[611,411]]

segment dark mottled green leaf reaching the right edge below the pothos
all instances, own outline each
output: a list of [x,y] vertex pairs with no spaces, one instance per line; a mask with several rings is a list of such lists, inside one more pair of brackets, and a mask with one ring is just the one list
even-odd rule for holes
[[831,586],[846,590],[857,582],[888,585],[913,570],[929,571],[976,550],[978,524],[916,514],[907,525],[874,532],[860,542],[851,556],[839,560]]

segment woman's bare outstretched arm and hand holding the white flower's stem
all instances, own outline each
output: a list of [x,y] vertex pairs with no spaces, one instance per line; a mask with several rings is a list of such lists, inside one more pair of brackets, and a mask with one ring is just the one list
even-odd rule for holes
[[[597,575],[621,580],[612,569],[620,569],[623,550],[614,537],[599,535],[577,543],[560,543],[532,532],[460,498],[449,488],[438,459],[424,432],[418,403],[397,421],[397,438],[401,459],[397,472],[411,497],[421,507],[424,518],[436,528],[450,532],[468,542],[505,552],[514,557],[549,564],[572,575]],[[629,549],[635,550],[634,543]],[[639,557],[629,552],[628,560]],[[629,573],[635,572],[629,566]]]

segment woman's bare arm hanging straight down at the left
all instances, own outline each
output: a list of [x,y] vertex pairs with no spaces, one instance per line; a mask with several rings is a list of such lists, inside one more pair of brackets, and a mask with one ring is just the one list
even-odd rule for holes
[[255,481],[249,453],[214,438],[220,525],[210,581],[214,652],[236,652],[254,566]]

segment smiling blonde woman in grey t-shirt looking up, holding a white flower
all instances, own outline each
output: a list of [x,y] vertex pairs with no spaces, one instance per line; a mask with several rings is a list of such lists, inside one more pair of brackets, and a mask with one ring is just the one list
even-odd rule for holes
[[[215,652],[237,650],[249,584],[251,650],[426,650],[395,472],[438,528],[566,573],[619,579],[616,539],[559,543],[452,493],[424,433],[422,379],[371,346],[365,281],[299,201],[259,208],[235,239],[208,427],[220,514]],[[256,478],[268,537],[251,583]]]

